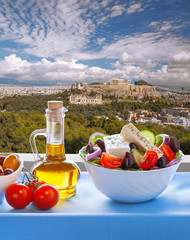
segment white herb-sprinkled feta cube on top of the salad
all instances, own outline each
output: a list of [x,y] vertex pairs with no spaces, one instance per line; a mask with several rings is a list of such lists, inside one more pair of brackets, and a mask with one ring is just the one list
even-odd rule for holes
[[106,152],[119,158],[124,158],[126,152],[130,152],[129,142],[120,134],[104,137]]

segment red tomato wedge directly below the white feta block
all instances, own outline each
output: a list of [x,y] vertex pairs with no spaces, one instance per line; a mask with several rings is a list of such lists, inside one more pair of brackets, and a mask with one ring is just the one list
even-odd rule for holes
[[101,156],[100,163],[106,168],[118,168],[122,165],[123,159],[118,158],[107,153],[103,153]]

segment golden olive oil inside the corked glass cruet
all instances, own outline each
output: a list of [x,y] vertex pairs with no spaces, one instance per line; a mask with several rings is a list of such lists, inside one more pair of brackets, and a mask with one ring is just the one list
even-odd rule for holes
[[76,191],[75,185],[78,181],[79,169],[72,162],[65,160],[64,147],[48,144],[47,149],[47,153],[50,155],[47,154],[45,159],[38,161],[34,165],[32,173],[41,181],[56,186],[60,198],[73,196]]

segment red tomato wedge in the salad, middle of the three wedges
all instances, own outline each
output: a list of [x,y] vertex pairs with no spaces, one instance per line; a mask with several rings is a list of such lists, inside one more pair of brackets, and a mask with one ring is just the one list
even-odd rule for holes
[[147,151],[139,163],[139,168],[143,170],[149,170],[156,165],[158,160],[158,154],[155,151]]

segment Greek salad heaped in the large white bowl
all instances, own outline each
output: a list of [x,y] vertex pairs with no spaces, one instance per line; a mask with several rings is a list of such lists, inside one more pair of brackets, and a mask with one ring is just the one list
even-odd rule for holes
[[[133,171],[156,170],[171,167],[180,160],[179,141],[166,134],[155,136],[149,130],[140,132],[130,123],[123,127],[121,134],[103,135],[93,134],[89,139],[90,144],[80,150],[85,161],[99,167]],[[96,136],[102,138],[92,141]]]

